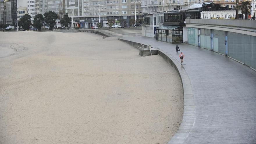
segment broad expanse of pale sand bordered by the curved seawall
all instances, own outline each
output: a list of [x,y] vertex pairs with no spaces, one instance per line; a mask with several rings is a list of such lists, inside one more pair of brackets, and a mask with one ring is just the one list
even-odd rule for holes
[[1,144],[167,144],[183,115],[159,55],[90,33],[0,32]]

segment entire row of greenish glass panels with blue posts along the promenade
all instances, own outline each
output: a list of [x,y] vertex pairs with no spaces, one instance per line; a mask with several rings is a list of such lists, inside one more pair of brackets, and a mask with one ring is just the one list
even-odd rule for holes
[[[198,46],[198,28],[188,27],[188,43]],[[256,37],[211,29],[200,29],[200,47],[228,55],[256,69]]]

